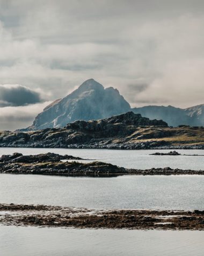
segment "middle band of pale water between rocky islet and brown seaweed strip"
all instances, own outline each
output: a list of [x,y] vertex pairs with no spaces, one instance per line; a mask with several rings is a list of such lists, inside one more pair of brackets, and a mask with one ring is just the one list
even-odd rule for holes
[[204,210],[204,176],[109,178],[0,174],[0,202],[94,209]]

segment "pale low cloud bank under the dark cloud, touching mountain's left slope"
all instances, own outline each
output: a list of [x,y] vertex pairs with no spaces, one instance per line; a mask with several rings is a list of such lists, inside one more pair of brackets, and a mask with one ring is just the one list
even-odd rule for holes
[[46,101],[28,106],[0,108],[0,130],[16,130],[30,126],[35,116],[50,103]]

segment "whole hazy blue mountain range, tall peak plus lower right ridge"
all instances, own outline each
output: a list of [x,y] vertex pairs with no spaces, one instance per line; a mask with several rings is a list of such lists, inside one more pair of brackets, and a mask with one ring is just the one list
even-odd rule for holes
[[186,109],[173,106],[131,108],[113,87],[104,88],[94,79],[83,82],[74,92],[55,100],[35,117],[32,126],[21,130],[60,128],[76,120],[98,120],[132,110],[149,119],[163,120],[169,126],[204,126],[204,105]]

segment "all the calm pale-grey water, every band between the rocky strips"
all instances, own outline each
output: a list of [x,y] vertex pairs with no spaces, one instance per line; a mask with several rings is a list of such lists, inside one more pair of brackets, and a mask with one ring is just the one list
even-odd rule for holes
[[[204,169],[203,156],[150,156],[165,150],[0,148],[54,152],[126,168]],[[167,150],[169,151],[169,150]],[[202,150],[177,150],[204,155]],[[0,174],[0,202],[75,207],[204,210],[204,176],[120,176],[113,178]],[[202,231],[77,230],[0,226],[0,255],[203,255]]]

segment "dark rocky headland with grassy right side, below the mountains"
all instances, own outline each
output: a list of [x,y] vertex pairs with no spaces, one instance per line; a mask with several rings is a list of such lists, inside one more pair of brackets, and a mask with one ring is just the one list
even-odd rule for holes
[[0,132],[0,147],[204,149],[204,128],[169,127],[127,112],[107,119],[75,121],[64,128]]

